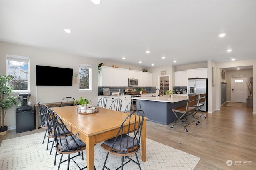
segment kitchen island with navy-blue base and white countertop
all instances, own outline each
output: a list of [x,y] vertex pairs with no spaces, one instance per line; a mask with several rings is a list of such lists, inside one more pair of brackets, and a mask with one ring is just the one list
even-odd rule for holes
[[172,109],[186,106],[188,96],[176,96],[172,97],[163,96],[151,96],[151,97],[135,97],[141,104],[141,109],[145,112],[145,117],[148,117],[148,121],[161,123],[168,125],[177,120],[177,117],[172,112]]

